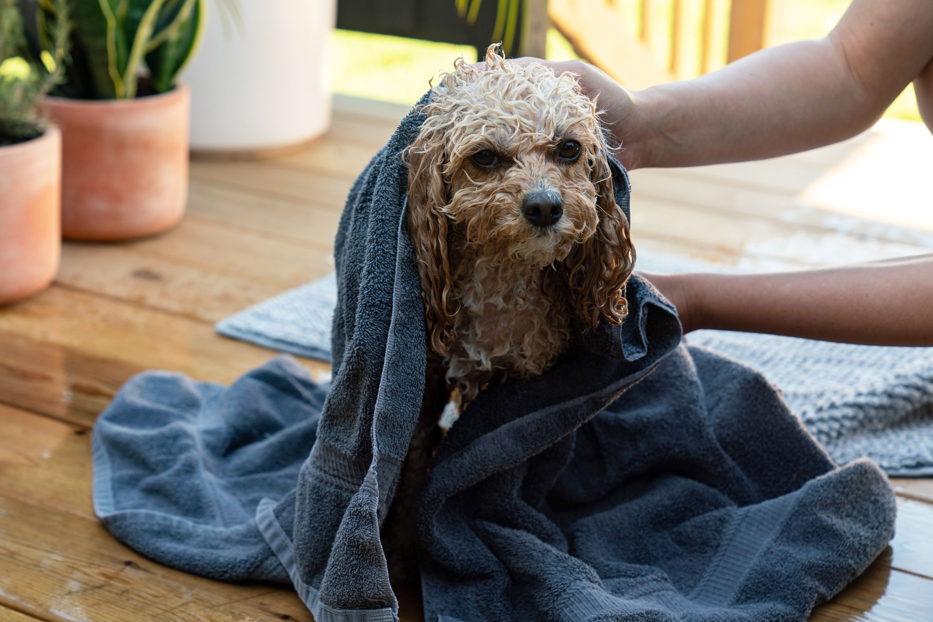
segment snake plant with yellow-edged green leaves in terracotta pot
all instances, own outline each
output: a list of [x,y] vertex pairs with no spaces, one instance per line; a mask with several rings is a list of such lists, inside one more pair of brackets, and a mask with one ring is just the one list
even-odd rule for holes
[[[36,23],[55,18],[51,0],[23,2],[35,6]],[[71,61],[54,94],[128,99],[174,88],[200,42],[207,0],[69,0],[69,6]]]

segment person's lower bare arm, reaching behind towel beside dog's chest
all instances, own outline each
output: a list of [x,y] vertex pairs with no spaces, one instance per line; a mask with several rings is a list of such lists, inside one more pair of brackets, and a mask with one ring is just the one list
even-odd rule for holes
[[684,332],[933,346],[933,254],[774,274],[643,274]]

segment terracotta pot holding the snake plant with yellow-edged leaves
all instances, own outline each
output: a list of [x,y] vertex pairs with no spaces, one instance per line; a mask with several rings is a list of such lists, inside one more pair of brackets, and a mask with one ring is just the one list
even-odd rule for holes
[[115,241],[174,227],[188,197],[190,91],[132,100],[46,98],[62,128],[62,233]]

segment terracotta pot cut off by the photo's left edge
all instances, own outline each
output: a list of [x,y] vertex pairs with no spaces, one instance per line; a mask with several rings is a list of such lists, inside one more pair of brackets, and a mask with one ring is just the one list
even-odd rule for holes
[[0,146],[0,304],[49,286],[62,254],[62,133]]

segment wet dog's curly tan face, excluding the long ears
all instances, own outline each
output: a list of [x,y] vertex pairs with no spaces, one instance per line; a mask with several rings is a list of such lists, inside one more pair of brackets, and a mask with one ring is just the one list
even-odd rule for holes
[[440,211],[465,226],[467,243],[500,260],[538,267],[563,261],[599,221],[592,104],[569,79],[524,80],[508,105],[493,80],[471,86],[439,97],[449,108],[443,116],[453,117],[445,136],[450,200]]

